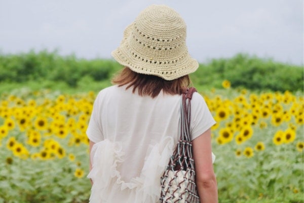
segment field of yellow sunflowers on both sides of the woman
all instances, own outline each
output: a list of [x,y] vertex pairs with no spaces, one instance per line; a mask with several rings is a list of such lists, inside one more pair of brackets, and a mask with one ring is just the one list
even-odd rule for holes
[[[220,202],[297,194],[300,199],[303,97],[288,91],[225,91],[229,96],[222,90],[203,94],[217,121],[212,136]],[[0,202],[87,201],[85,131],[94,99],[94,92],[2,95]]]

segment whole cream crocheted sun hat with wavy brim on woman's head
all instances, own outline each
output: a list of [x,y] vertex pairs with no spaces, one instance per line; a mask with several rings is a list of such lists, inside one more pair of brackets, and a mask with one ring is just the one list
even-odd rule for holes
[[195,72],[198,62],[186,47],[186,24],[173,9],[152,5],[144,9],[124,31],[112,56],[141,74],[174,80]]

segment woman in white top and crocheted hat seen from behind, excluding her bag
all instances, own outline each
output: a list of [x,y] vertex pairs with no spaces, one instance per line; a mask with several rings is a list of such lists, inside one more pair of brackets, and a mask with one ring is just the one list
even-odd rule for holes
[[[186,25],[167,6],[149,6],[124,32],[112,56],[125,68],[99,92],[87,135],[90,202],[158,202],[160,178],[178,141],[180,94],[198,62],[187,52]],[[210,127],[194,93],[191,140],[201,202],[217,202]]]

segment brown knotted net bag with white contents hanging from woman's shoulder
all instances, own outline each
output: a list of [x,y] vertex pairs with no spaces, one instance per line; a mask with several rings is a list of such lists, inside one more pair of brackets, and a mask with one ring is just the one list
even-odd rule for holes
[[161,177],[160,202],[199,203],[195,182],[192,142],[190,140],[191,98],[194,87],[182,93],[180,107],[180,136],[167,169]]

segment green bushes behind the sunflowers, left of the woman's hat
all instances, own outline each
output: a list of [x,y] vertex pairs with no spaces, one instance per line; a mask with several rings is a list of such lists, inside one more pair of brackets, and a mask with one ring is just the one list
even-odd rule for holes
[[0,55],[0,82],[54,81],[76,87],[84,76],[93,81],[107,80],[120,69],[111,60],[78,59],[74,55],[60,56],[56,51]]

